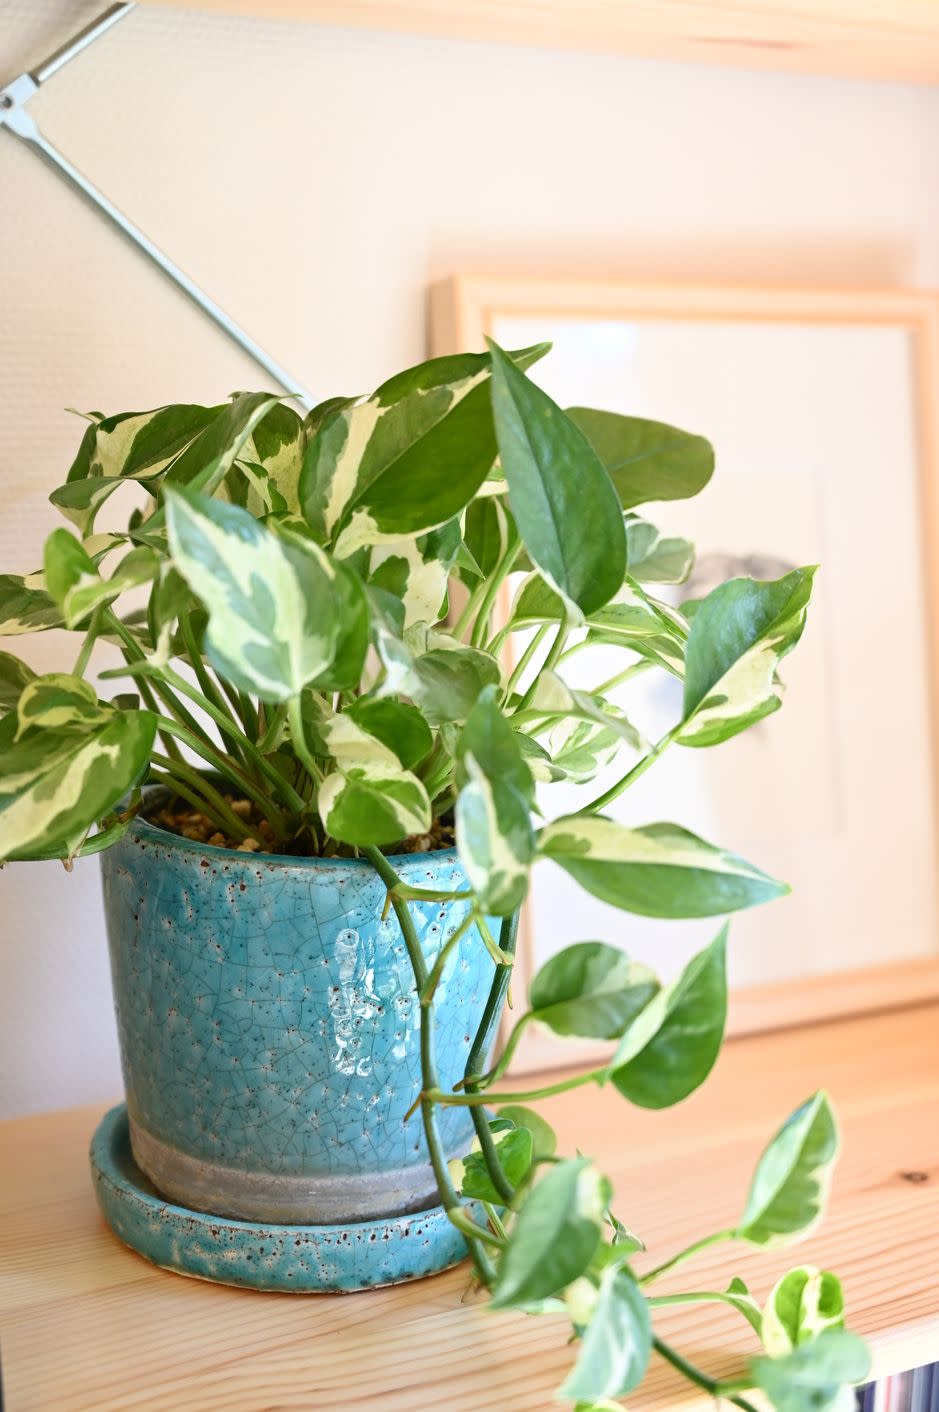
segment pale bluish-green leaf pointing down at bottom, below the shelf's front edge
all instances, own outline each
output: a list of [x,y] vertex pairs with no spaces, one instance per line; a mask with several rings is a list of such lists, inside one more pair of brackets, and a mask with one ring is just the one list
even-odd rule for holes
[[650,1309],[628,1269],[611,1265],[559,1395],[570,1399],[621,1398],[645,1377],[652,1351]]

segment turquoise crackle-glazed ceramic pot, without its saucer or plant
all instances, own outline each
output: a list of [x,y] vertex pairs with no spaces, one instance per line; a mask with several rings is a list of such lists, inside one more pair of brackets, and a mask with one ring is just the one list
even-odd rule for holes
[[[463,890],[455,850],[394,860]],[[102,854],[133,1152],[171,1200],[254,1221],[342,1224],[429,1207],[419,1007],[364,860],[191,843],[137,820]],[[428,960],[467,902],[409,904]],[[493,962],[472,929],[436,993],[441,1079],[462,1077]],[[448,1155],[465,1108],[441,1113]]]

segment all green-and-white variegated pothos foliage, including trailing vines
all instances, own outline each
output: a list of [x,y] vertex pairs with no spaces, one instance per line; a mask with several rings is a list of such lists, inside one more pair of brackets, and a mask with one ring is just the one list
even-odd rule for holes
[[[603,810],[666,747],[717,744],[778,709],[777,668],[802,633],[813,569],[734,579],[681,607],[659,597],[688,576],[692,548],[637,510],[696,494],[712,449],[659,422],[563,411],[527,376],[545,352],[490,345],[435,359],[306,418],[264,393],[92,414],[51,497],[71,528],[49,537],[41,572],[0,578],[0,634],[59,627],[79,640],[71,672],[37,676],[0,654],[0,860],[71,863],[109,846],[133,826],[145,782],[257,846],[230,806],[237,794],[280,851],[373,861],[408,943],[422,1025],[462,936],[487,946],[480,1072],[470,1065],[462,1091],[443,1091],[422,1046],[425,1138],[493,1305],[566,1309],[580,1353],[563,1396],[602,1408],[638,1384],[654,1347],[678,1360],[654,1336],[648,1286],[683,1255],[637,1275],[641,1243],[611,1214],[606,1178],[587,1158],[559,1158],[544,1118],[491,1084],[527,1027],[542,1025],[610,1043],[600,1069],[562,1086],[611,1083],[648,1108],[685,1099],[723,1038],[726,925],[668,986],[620,947],[566,947],[483,1073],[513,918],[539,860],[642,916],[723,918],[785,891],[675,823],[626,827]],[[133,508],[102,531],[104,508],[128,494]],[[99,641],[120,655],[100,675],[130,678],[133,692],[100,700],[88,683]],[[511,672],[507,641],[525,644]],[[618,678],[570,686],[566,659],[585,645],[621,652]],[[650,669],[683,690],[679,719],[651,747],[609,696]],[[614,785],[545,818],[537,785],[586,785],[620,757]],[[473,905],[428,970],[414,890],[385,854],[450,816]],[[479,1134],[452,1172],[435,1118],[448,1103],[467,1104]],[[781,1128],[740,1224],[722,1237],[803,1234],[836,1147],[816,1096]],[[812,1406],[837,1412],[864,1375],[827,1272],[791,1271],[762,1309],[740,1282],[658,1303],[678,1298],[729,1303],[758,1334],[762,1353],[733,1388],[682,1364],[740,1405],[740,1388],[755,1384],[779,1412],[808,1405],[806,1389]]]

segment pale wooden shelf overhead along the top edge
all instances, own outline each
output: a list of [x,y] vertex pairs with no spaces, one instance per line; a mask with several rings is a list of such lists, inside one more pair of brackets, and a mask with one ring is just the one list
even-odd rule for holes
[[939,82],[935,0],[150,0],[182,10]]

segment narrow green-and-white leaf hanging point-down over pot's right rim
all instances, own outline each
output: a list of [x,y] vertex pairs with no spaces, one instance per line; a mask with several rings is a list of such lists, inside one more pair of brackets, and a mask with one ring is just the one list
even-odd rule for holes
[[469,713],[456,764],[456,847],[483,911],[507,916],[528,891],[535,785],[497,686],[486,686]]

